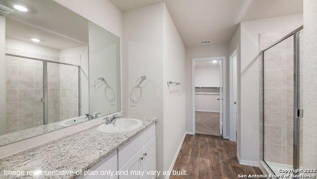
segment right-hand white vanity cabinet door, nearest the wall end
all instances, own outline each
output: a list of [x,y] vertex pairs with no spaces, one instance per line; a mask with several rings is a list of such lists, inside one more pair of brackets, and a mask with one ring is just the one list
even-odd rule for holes
[[155,136],[142,147],[142,170],[144,171],[143,179],[155,179],[155,175],[147,174],[147,172],[156,170],[156,147]]

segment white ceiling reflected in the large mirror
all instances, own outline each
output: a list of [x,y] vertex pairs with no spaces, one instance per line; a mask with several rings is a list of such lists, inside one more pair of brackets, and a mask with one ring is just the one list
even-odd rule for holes
[[[14,10],[5,15],[6,36],[29,43],[40,39],[38,45],[65,49],[88,45],[88,20],[53,0],[0,0],[0,4]],[[28,8],[21,12],[14,4]]]

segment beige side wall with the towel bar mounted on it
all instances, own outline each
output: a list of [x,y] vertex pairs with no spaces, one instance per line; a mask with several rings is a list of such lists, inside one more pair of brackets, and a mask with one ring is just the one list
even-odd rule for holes
[[[173,160],[186,128],[185,119],[185,46],[164,4],[163,51],[163,150],[164,170],[172,170]],[[180,82],[175,87],[167,81]],[[173,137],[171,137],[173,136]],[[175,162],[175,161],[174,161]]]

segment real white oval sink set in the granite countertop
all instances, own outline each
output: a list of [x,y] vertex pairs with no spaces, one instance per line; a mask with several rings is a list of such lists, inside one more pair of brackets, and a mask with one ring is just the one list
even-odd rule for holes
[[132,131],[142,126],[142,121],[133,118],[117,119],[114,124],[102,124],[98,126],[97,130],[101,133],[124,133]]

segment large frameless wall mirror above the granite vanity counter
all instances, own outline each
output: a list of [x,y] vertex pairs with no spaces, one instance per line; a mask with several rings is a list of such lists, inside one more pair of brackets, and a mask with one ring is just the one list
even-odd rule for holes
[[53,0],[0,0],[0,146],[120,111],[120,39]]

